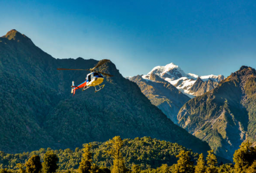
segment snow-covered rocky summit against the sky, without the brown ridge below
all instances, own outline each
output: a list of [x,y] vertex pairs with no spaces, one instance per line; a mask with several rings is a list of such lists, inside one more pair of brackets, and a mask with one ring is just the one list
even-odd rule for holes
[[[165,66],[156,66],[147,75],[142,77],[148,79],[150,74],[160,76],[190,98],[201,96],[203,93],[215,88],[221,80],[225,79],[223,75],[199,76],[192,73],[186,74],[178,65],[173,63]],[[200,82],[197,81],[198,78],[199,80],[201,79]]]

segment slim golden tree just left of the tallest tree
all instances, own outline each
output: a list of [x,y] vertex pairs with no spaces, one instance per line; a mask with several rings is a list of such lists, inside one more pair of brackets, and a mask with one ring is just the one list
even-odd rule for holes
[[89,173],[92,166],[92,153],[91,153],[91,143],[86,144],[83,148],[82,160],[79,163],[78,172],[79,173]]

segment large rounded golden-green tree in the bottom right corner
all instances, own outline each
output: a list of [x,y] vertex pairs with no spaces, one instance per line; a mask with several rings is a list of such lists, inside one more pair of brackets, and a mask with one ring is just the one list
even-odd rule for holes
[[235,162],[235,172],[243,173],[249,168],[256,158],[256,149],[249,141],[243,142],[240,148],[235,151],[233,160]]

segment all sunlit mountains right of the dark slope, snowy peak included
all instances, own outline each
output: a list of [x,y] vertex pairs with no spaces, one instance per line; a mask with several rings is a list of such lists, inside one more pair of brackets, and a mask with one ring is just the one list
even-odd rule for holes
[[[253,68],[242,66],[225,79],[223,75],[186,74],[171,63],[129,79],[174,123],[209,143],[220,156],[231,160],[245,140],[256,145]],[[185,94],[194,98],[189,100]]]

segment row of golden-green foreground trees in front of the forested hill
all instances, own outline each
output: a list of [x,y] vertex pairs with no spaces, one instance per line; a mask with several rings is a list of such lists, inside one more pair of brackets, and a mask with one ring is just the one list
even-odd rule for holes
[[77,169],[58,170],[59,158],[52,150],[47,151],[44,155],[43,162],[39,155],[32,155],[25,164],[18,163],[16,170],[1,169],[0,173],[218,173],[218,172],[234,172],[234,173],[256,173],[256,148],[248,141],[241,144],[240,148],[234,153],[234,164],[218,164],[217,158],[213,150],[208,151],[206,159],[203,153],[199,154],[196,161],[190,157],[191,151],[181,150],[176,157],[177,163],[169,166],[163,164],[157,168],[143,169],[140,165],[133,164],[131,168],[127,168],[123,157],[122,148],[124,141],[120,136],[115,136],[107,143],[104,154],[110,154],[113,158],[111,167],[102,167],[92,158],[92,143],[84,145],[82,159]]

